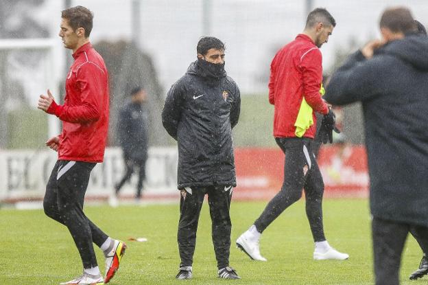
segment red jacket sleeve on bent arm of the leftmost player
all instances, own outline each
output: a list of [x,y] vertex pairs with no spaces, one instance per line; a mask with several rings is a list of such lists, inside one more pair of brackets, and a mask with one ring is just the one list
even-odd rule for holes
[[56,115],[64,122],[88,123],[99,119],[102,114],[103,90],[106,89],[106,75],[99,67],[88,63],[80,67],[76,74],[76,84],[80,91],[80,104],[69,106],[52,102],[47,113]]

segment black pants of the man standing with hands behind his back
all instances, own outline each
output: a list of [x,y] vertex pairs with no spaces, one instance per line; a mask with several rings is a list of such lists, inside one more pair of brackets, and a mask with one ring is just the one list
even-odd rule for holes
[[195,252],[196,231],[205,194],[208,194],[208,203],[212,222],[212,238],[217,259],[218,269],[229,265],[230,253],[230,222],[229,209],[233,187],[208,186],[192,187],[181,190],[180,221],[178,223],[178,250],[180,251],[180,266],[193,264]]

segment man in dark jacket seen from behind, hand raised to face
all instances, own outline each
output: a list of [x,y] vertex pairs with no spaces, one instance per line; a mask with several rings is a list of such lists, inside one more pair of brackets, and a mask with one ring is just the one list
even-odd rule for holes
[[428,249],[428,38],[407,8],[388,8],[383,41],[351,55],[329,82],[331,104],[362,102],[376,284],[399,284],[412,231]]

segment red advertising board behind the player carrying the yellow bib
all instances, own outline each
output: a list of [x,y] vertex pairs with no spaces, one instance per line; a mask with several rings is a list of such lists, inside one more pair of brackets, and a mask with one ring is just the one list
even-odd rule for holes
[[[237,187],[234,198],[272,198],[281,190],[284,158],[279,148],[237,148]],[[363,146],[324,146],[320,150],[318,164],[324,178],[324,196],[367,196],[369,180]]]

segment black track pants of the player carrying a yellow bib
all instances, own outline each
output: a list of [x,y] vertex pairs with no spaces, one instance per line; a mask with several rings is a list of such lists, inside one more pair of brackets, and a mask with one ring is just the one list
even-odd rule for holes
[[322,194],[324,181],[313,155],[313,139],[276,138],[276,143],[285,153],[284,181],[281,191],[272,198],[261,216],[254,222],[263,232],[287,207],[298,201],[305,190],[306,215],[313,240],[325,240],[322,225]]

